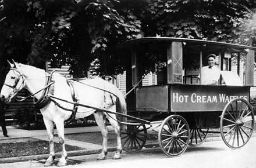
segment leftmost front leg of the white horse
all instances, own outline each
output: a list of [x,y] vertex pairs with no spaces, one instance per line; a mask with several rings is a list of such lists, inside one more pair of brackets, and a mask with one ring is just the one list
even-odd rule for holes
[[48,138],[49,138],[49,157],[44,163],[44,166],[52,166],[55,159],[55,152],[54,152],[54,123],[44,117],[44,124],[47,129]]

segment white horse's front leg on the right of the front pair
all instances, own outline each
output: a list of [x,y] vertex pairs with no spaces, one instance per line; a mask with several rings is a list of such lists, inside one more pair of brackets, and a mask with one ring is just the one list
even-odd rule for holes
[[59,144],[62,145],[62,151],[61,151],[61,159],[59,159],[59,162],[57,166],[66,166],[67,161],[67,152],[65,149],[65,138],[64,138],[64,120],[63,119],[58,119],[55,122],[56,129],[58,132],[58,137],[59,137]]

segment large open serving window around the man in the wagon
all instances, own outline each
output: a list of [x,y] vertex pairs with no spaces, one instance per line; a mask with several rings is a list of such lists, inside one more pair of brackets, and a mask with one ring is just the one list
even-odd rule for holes
[[[221,71],[230,71],[230,73],[222,73],[223,75],[219,78],[218,85],[245,85],[244,71],[246,69],[247,53],[243,49],[224,48],[221,45],[203,45],[201,43],[183,45],[184,84],[200,85],[201,82],[198,79],[200,76],[198,75],[201,67],[208,65],[207,56],[211,53],[216,55],[216,67]],[[227,74],[233,76],[236,82],[231,82],[230,79],[232,78],[229,78]]]

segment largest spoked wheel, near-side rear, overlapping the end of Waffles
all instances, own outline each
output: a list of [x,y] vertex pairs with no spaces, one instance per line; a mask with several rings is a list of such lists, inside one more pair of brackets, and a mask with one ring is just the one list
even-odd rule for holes
[[221,115],[221,137],[229,148],[243,147],[253,134],[254,113],[248,101],[236,98],[225,106]]

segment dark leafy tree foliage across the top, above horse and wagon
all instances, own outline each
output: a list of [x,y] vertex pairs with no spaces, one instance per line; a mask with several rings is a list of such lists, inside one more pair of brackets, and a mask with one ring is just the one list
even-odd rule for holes
[[73,74],[86,76],[93,62],[98,74],[118,74],[126,61],[116,45],[140,36],[255,45],[256,25],[251,22],[255,4],[249,0],[3,0],[2,4],[2,67],[11,58],[37,66],[49,60],[53,67],[69,64]]

